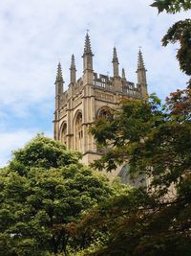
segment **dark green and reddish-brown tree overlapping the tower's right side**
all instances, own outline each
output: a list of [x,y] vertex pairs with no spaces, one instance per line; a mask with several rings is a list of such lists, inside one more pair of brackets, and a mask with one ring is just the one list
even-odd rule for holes
[[107,151],[95,167],[110,171],[128,161],[131,174],[150,183],[147,190],[110,198],[84,218],[83,227],[102,234],[97,250],[82,255],[191,254],[190,97],[187,88],[172,93],[166,105],[155,95],[126,100],[112,121],[97,120],[92,132]]

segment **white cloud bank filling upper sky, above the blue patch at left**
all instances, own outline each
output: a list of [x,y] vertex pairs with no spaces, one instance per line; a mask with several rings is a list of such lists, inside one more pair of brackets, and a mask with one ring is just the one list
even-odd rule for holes
[[157,15],[157,10],[149,7],[152,3],[149,0],[7,0],[5,3],[0,7],[3,74],[0,101],[12,109],[18,103],[27,109],[28,105],[53,97],[58,58],[62,60],[67,80],[72,53],[81,71],[87,28],[91,30],[95,67],[99,72],[112,70],[112,48],[117,44],[120,62],[128,67],[129,76],[135,80],[138,45],[141,45],[151,83],[158,76],[161,80],[158,82],[166,75],[173,79],[175,73],[182,77],[174,64],[174,48],[164,50],[159,41],[169,24],[186,14]]

